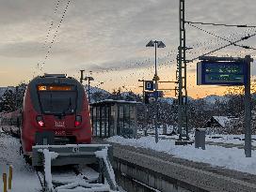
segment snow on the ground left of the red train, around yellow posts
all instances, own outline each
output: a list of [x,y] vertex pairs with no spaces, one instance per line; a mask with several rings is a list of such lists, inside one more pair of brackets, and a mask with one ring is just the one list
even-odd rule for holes
[[[19,152],[19,140],[0,133],[0,174],[8,173],[8,165],[13,166],[13,179],[11,192],[39,192],[40,181],[36,171],[25,164]],[[1,179],[2,180],[2,179]],[[0,182],[3,189],[3,182]]]

